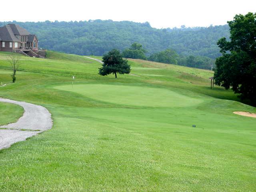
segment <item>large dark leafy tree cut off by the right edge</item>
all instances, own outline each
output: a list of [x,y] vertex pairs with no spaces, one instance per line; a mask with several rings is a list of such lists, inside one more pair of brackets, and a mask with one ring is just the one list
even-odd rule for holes
[[222,56],[216,59],[215,84],[232,87],[242,98],[256,100],[256,14],[236,15],[229,21],[230,41],[218,41]]

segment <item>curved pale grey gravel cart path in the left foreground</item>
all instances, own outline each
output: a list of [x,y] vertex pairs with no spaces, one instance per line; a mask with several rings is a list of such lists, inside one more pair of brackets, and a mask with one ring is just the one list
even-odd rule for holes
[[16,123],[0,126],[0,149],[8,148],[13,143],[26,140],[45,130],[52,128],[50,112],[39,105],[0,98],[0,102],[20,105],[24,108],[24,114]]

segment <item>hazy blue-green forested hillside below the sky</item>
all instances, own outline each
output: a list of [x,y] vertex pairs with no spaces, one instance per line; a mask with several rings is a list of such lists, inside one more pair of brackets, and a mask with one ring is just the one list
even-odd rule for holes
[[[0,26],[10,22],[0,22]],[[180,55],[220,56],[218,39],[228,38],[229,27],[208,28],[152,28],[148,22],[89,20],[80,22],[12,22],[36,34],[39,46],[71,54],[99,55],[117,48],[124,50],[138,42],[147,50],[146,55],[172,48]]]

